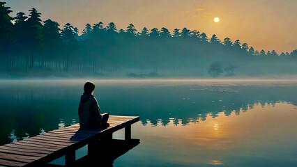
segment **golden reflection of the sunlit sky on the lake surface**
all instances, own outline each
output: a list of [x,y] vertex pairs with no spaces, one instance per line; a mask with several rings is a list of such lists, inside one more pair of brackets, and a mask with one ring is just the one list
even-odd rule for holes
[[[208,115],[201,122],[134,127],[142,144],[116,166],[296,166],[297,111],[289,103],[254,104],[252,109],[225,116]],[[149,122],[148,122],[149,123]],[[126,156],[126,157],[125,157]],[[148,160],[149,159],[149,160]]]

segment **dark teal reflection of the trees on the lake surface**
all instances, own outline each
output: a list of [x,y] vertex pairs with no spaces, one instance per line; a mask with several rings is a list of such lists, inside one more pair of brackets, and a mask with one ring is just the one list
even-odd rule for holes
[[[80,82],[0,83],[1,144],[75,124]],[[95,81],[102,111],[140,116],[143,126],[167,127],[240,115],[254,106],[297,104],[295,84],[146,83]],[[41,130],[42,129],[42,130]],[[218,128],[220,129],[220,128]]]

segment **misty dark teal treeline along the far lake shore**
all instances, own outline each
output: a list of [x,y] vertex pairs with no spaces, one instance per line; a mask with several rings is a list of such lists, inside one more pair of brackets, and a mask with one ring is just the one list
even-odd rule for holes
[[[51,19],[42,21],[35,8],[28,16],[20,12],[12,17],[5,4],[0,2],[3,72],[192,76],[296,72],[297,50],[258,51],[240,40],[220,40],[215,34],[208,37],[187,28],[137,31],[129,24],[118,30],[114,22],[99,22],[86,24],[82,31],[70,23],[60,29]],[[219,72],[212,71],[214,64],[221,68]]]

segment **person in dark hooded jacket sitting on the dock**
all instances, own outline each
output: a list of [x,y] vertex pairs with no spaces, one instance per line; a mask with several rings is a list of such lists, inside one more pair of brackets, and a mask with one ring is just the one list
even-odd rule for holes
[[109,113],[101,113],[98,101],[93,95],[94,90],[95,84],[93,82],[84,84],[84,93],[80,97],[78,107],[79,126],[83,129],[109,126],[107,123]]

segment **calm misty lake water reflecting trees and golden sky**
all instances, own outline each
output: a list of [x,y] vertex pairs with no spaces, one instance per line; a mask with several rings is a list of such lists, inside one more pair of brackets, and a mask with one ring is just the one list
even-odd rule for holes
[[[0,81],[1,145],[76,123],[85,81]],[[114,166],[297,166],[297,81],[90,81],[103,112],[141,119]]]

